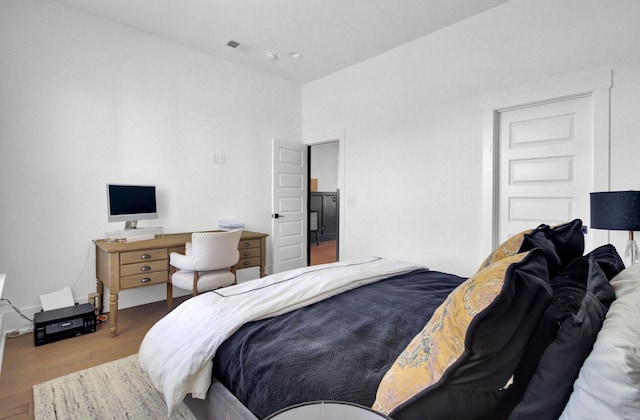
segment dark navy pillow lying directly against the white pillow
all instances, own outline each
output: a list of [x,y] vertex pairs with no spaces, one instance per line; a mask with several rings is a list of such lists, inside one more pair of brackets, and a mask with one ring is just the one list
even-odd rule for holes
[[[611,257],[609,250],[601,259]],[[615,292],[598,257],[575,259],[551,279],[553,299],[531,336],[516,369],[513,386],[501,403],[509,419],[557,419],[573,382],[591,352]],[[503,416],[496,416],[503,417]]]

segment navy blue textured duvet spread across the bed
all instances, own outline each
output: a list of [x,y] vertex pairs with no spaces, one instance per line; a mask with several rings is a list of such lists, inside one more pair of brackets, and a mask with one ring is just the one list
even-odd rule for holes
[[259,418],[315,400],[371,406],[397,356],[464,280],[417,270],[248,323],[218,349],[214,375]]

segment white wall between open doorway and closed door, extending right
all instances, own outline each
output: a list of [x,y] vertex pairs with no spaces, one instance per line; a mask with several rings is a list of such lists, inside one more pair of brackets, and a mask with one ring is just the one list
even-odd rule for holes
[[513,0],[305,85],[303,133],[346,133],[345,257],[477,269],[482,103],[500,91],[613,69],[611,188],[640,189],[639,22],[635,0]]

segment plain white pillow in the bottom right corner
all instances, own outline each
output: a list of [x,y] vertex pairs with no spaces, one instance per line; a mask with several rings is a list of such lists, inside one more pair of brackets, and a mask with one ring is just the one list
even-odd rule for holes
[[640,416],[640,264],[611,280],[616,291],[561,420]]

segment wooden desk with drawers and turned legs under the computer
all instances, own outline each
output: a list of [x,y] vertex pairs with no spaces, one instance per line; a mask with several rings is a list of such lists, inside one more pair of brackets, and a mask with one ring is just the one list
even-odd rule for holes
[[[260,267],[260,277],[265,276],[267,264],[266,233],[243,231],[238,249],[240,260],[232,271]],[[118,293],[123,289],[167,284],[167,306],[171,303],[169,283],[169,254],[184,253],[184,244],[191,241],[191,232],[158,235],[155,239],[137,242],[107,242],[96,244],[96,291],[102,306],[104,283],[109,288],[109,331],[111,337],[118,332]]]

